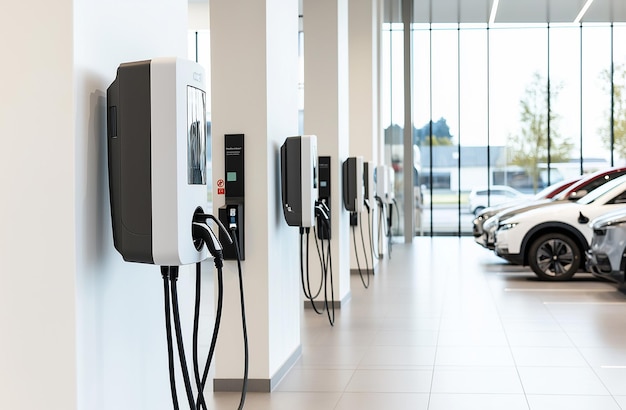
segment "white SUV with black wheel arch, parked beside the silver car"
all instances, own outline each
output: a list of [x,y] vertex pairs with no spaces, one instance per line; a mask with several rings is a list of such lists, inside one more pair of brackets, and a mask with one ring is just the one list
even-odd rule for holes
[[568,280],[585,266],[593,234],[589,221],[620,208],[626,208],[626,176],[576,202],[536,208],[500,221],[496,254],[529,265],[541,279]]

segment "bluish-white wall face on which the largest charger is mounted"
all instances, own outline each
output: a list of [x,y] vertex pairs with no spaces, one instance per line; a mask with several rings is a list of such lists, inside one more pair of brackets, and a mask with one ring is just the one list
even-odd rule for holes
[[125,263],[113,248],[105,109],[120,63],[186,57],[187,4],[76,0],[74,13],[79,408],[170,409],[159,268]]

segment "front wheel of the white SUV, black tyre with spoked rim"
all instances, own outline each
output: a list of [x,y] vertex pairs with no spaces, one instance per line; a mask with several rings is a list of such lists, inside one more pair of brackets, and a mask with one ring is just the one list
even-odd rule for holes
[[537,238],[528,251],[528,264],[544,280],[569,280],[580,267],[581,252],[576,242],[560,233]]

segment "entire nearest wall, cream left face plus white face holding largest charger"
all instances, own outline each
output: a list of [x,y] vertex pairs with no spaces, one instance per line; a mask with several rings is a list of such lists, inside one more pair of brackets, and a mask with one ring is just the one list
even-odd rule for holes
[[3,10],[2,409],[171,408],[159,269],[113,249],[105,98],[121,62],[184,57],[186,29],[173,0]]

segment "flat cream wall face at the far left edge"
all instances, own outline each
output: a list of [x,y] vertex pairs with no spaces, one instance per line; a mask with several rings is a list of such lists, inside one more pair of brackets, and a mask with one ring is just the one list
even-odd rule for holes
[[72,409],[72,2],[5,5],[0,38],[0,408]]

